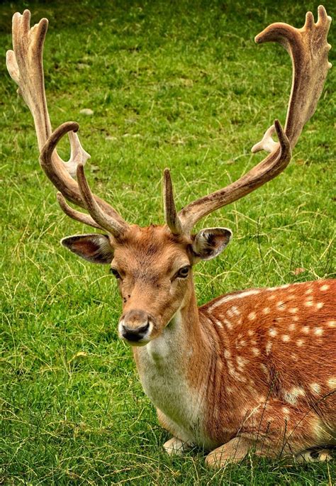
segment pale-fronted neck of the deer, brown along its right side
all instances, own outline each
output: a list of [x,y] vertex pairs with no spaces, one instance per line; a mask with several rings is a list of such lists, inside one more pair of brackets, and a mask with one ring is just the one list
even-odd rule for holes
[[133,348],[145,393],[188,441],[196,440],[193,431],[203,422],[207,363],[211,363],[210,343],[203,332],[190,282],[184,302],[162,334],[147,346]]

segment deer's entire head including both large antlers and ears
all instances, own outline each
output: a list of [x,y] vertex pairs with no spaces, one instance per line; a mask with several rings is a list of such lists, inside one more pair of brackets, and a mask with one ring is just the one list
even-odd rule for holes
[[[253,152],[267,150],[269,155],[233,184],[191,202],[179,212],[169,170],[164,170],[165,224],[140,228],[126,223],[113,206],[91,192],[84,174],[89,154],[77,137],[78,124],[63,123],[52,133],[43,79],[47,19],[30,28],[28,10],[13,16],[13,50],[7,53],[7,67],[33,114],[40,165],[58,189],[57,199],[65,214],[106,232],[69,236],[62,244],[92,263],[111,266],[123,299],[119,333],[128,343],[145,345],[159,336],[181,306],[194,299],[193,265],[198,260],[214,258],[228,245],[232,236],[228,228],[205,228],[194,234],[196,223],[262,186],[289,164],[291,150],[315,111],[331,66],[327,62],[330,45],[326,40],[330,20],[320,6],[317,23],[308,12],[303,28],[274,23],[255,39],[257,43],[280,43],[289,51],[293,63],[285,128],[275,120],[261,142],[252,148]],[[71,146],[69,162],[61,160],[56,150],[65,133]],[[272,139],[274,133],[277,142]],[[67,201],[88,214],[73,209]]]

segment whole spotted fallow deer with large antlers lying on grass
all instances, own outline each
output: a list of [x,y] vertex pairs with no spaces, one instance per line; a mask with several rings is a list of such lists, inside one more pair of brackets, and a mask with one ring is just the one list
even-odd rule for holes
[[[7,67],[33,115],[40,165],[62,211],[102,231],[61,243],[91,263],[108,265],[116,277],[123,307],[118,335],[133,350],[159,424],[172,434],[164,450],[182,454],[201,447],[209,467],[237,463],[249,453],[328,460],[336,445],[336,280],[233,291],[199,308],[193,280],[194,265],[218,256],[232,237],[222,227],[193,233],[196,223],[289,164],[331,67],[330,21],[319,6],[316,23],[308,12],[303,28],[272,23],[255,38],[284,46],[293,67],[284,128],[276,119],[252,148],[265,150],[264,160],[180,211],[165,169],[165,222],[140,227],[91,191],[84,172],[90,155],[79,141],[79,125],[67,121],[52,131],[43,74],[47,19],[30,28],[28,10],[13,15]],[[57,154],[65,134],[68,162]]]

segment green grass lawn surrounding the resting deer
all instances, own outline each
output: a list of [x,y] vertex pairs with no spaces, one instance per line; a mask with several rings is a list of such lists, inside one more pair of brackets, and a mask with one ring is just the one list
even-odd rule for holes
[[[250,148],[274,118],[284,121],[291,65],[279,46],[254,45],[254,35],[272,21],[301,26],[318,3],[100,3],[1,2],[3,53],[14,11],[50,19],[52,125],[79,122],[89,181],[125,219],[162,223],[164,167],[184,206],[262,158]],[[168,434],[117,338],[116,283],[60,247],[60,238],[87,228],[58,208],[38,166],[30,114],[4,62],[0,69],[3,483],[332,485],[332,463],[251,456],[213,472],[202,451],[163,453]],[[199,304],[233,289],[333,275],[333,87],[331,71],[286,172],[202,222],[228,226],[235,238],[225,255],[198,266]],[[84,108],[94,115],[80,114]]]

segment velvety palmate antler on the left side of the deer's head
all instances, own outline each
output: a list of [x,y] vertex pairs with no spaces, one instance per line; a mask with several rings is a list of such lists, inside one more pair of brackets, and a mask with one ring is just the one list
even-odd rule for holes
[[[91,216],[75,211],[67,205],[64,197],[58,196],[62,210],[77,221],[94,228],[105,229],[118,236],[128,228],[128,224],[113,206],[91,193],[83,170],[90,155],[79,142],[76,133],[78,124],[63,123],[52,133],[43,74],[43,45],[47,26],[47,19],[42,18],[38,24],[30,28],[28,10],[25,10],[23,15],[18,12],[13,15],[13,50],[7,52],[7,69],[11,78],[18,84],[18,92],[23,96],[33,115],[40,149],[40,164],[47,177],[68,201],[87,209]],[[64,162],[55,150],[57,142],[65,133],[68,133],[70,140],[69,162]],[[77,167],[81,167],[79,184],[72,178],[77,174]]]

